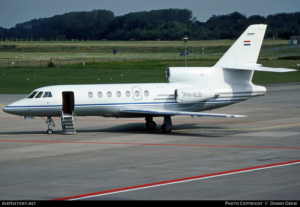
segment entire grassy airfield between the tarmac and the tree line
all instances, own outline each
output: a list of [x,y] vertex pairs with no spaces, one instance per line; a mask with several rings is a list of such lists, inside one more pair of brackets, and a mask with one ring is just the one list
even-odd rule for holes
[[[187,42],[187,48],[192,48],[194,53],[198,54],[202,52],[202,47],[204,47],[204,52],[206,53],[222,53],[226,52],[234,41],[189,41]],[[287,46],[286,42],[285,40],[264,40],[262,49],[285,47]],[[179,52],[184,50],[183,48],[182,41],[1,42],[0,60],[6,61],[3,66],[0,66],[0,94],[29,93],[39,87],[59,84],[167,82],[165,79],[167,67],[184,66],[184,56],[179,56]],[[92,60],[91,58],[112,57],[113,49],[118,49],[118,61],[111,59],[113,61],[108,62],[106,59],[103,62],[89,62]],[[191,53],[192,49],[187,50]],[[300,54],[298,50],[276,50],[276,54],[273,56],[270,55],[270,52],[262,52],[257,63],[266,67],[297,69],[298,60],[277,59],[277,53],[281,55],[284,53]],[[82,64],[83,61],[86,61],[85,58],[77,60],[77,63],[79,62],[78,65],[76,62],[74,62],[74,65],[67,64],[67,62],[70,63],[70,61],[76,61],[76,59],[61,60],[54,58],[55,64],[57,66],[61,65],[61,67],[45,67],[49,62],[49,57],[51,59],[53,57],[76,58],[77,53],[86,53],[86,58],[90,58],[85,62],[85,66]],[[160,59],[160,55],[169,56],[169,59]],[[136,58],[134,58],[134,61],[131,58],[124,61],[124,56],[134,56]],[[137,58],[139,56],[149,56],[149,59],[139,60]],[[201,59],[193,59],[192,54],[187,59],[187,66],[212,66],[220,56],[202,56]],[[35,59],[33,60],[33,58]],[[11,62],[7,62],[7,60],[15,59],[19,60],[18,67],[12,68]],[[25,59],[29,59],[30,62],[21,61]],[[35,62],[36,65],[32,66],[32,62]],[[29,63],[30,67],[28,67]],[[41,68],[39,67],[40,65]],[[16,66],[16,62],[14,66]],[[299,72],[255,72],[253,75],[254,84],[293,81],[300,81]]]

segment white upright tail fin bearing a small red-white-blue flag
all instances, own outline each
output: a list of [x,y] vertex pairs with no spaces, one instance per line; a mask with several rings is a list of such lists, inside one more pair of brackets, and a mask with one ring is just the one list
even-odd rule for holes
[[256,64],[266,27],[267,25],[264,24],[250,25],[216,63],[216,66]]

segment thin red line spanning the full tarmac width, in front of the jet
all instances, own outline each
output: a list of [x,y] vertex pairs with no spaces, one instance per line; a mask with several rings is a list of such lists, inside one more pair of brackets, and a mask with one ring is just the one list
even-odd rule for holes
[[263,146],[234,146],[234,145],[175,145],[151,143],[117,143],[117,142],[65,142],[65,141],[31,141],[31,140],[0,140],[0,142],[47,142],[73,144],[107,144],[107,145],[158,145],[158,146],[190,146],[190,147],[240,147],[240,148],[273,148],[273,149],[300,149],[298,147],[263,147]]

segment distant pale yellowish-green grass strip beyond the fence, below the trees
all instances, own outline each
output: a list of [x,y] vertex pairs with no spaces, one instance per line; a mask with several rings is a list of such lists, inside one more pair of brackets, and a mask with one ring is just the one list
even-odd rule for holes
[[[192,53],[225,53],[235,40],[188,41],[187,50]],[[262,49],[287,46],[286,40],[265,39]],[[78,53],[86,53],[88,58],[113,57],[113,49],[117,56],[179,56],[184,50],[183,41],[14,41],[0,43],[0,60],[32,59],[40,57],[77,58]],[[281,51],[290,53],[291,50]],[[300,49],[293,49],[292,53]],[[265,52],[264,52],[265,53]],[[274,52],[278,54],[278,52]]]

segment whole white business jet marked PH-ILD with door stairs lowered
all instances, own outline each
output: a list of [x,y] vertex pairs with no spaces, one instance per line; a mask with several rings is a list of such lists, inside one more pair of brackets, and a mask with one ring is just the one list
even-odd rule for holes
[[[48,134],[55,126],[51,117],[61,117],[65,133],[74,133],[76,116],[116,118],[145,117],[146,129],[155,129],[153,117],[164,117],[163,132],[173,129],[171,116],[242,117],[232,114],[202,113],[238,103],[266,93],[252,84],[253,71],[288,72],[257,64],[266,25],[251,25],[212,67],[170,67],[169,83],[59,85],[34,90],[26,98],[3,111],[25,116],[45,117]],[[47,118],[46,118],[47,117]]]

